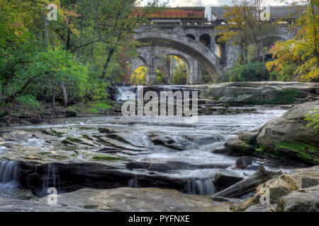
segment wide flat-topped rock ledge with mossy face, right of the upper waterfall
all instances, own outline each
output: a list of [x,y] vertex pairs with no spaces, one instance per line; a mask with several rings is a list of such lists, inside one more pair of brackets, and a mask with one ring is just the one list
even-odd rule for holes
[[319,95],[318,83],[297,82],[242,82],[198,85],[201,98],[216,103],[233,105],[291,105],[315,100]]

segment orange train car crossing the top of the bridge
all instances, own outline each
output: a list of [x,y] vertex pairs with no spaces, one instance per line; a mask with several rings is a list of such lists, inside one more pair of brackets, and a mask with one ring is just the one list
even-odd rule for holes
[[[135,16],[141,16],[136,13]],[[166,8],[161,13],[152,13],[147,18],[153,23],[206,23],[205,7]]]

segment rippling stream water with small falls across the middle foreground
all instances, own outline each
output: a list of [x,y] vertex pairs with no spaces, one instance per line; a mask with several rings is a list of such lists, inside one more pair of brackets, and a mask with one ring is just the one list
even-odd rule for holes
[[[135,175],[152,173],[173,179],[186,179],[186,191],[189,194],[211,195],[216,192],[213,178],[220,169],[228,170],[239,177],[254,173],[253,170],[235,169],[237,157],[212,151],[223,148],[228,138],[257,129],[285,112],[283,109],[270,107],[256,108],[259,114],[200,116],[194,124],[185,124],[184,117],[76,117],[56,119],[53,124],[40,126],[16,126],[11,128],[8,134],[3,133],[2,138],[0,136],[0,146],[9,148],[9,154],[0,153],[0,159],[6,155],[20,156],[21,153],[28,158],[39,157],[39,153],[51,153],[49,156],[63,154],[67,155],[67,160],[72,156],[73,161],[87,161],[91,153],[98,153],[100,149],[94,146],[79,146],[74,149],[78,154],[71,155],[73,149],[62,145],[61,141],[66,137],[82,138],[84,134],[90,137],[101,136],[98,128],[103,127],[116,131],[116,134],[125,138],[127,143],[120,142],[125,151],[116,153],[118,157],[126,157],[134,162],[182,162],[193,166],[166,171],[155,169],[153,172],[152,169],[135,169]],[[63,136],[43,136],[40,129],[62,131]],[[162,143],[153,142],[152,136],[159,137]],[[51,159],[51,162],[55,160]],[[255,161],[254,165],[259,163]],[[110,164],[122,167],[124,172],[132,172],[125,169],[125,165],[121,163]],[[6,193],[7,188],[18,186],[17,167],[14,162],[0,162],[1,193]],[[266,165],[266,168],[271,170],[293,167],[295,166]],[[57,186],[59,183],[54,165],[47,165],[47,180],[43,186]],[[139,187],[138,179],[130,179],[128,186]]]

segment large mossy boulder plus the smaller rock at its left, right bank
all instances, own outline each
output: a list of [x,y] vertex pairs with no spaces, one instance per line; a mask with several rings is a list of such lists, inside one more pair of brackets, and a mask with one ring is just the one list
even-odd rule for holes
[[319,164],[319,134],[305,121],[319,101],[297,105],[260,129],[231,138],[225,147],[240,153]]

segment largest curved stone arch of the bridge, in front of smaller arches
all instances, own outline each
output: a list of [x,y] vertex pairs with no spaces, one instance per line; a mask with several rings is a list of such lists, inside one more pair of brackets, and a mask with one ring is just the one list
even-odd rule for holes
[[[221,76],[218,69],[218,57],[211,52],[211,49],[195,40],[191,40],[189,37],[169,32],[147,31],[136,34],[135,39],[143,43],[142,47],[164,47],[188,55],[201,63],[211,75],[213,81]],[[154,81],[154,78],[151,78],[151,80]]]

